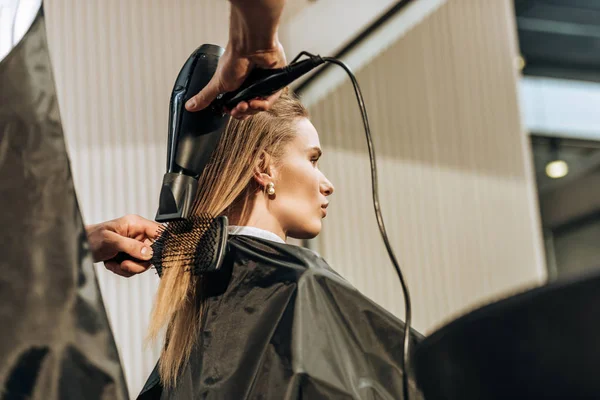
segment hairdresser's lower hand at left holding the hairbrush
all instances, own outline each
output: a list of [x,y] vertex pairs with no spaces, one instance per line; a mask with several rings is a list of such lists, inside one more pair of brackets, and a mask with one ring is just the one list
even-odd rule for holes
[[[150,239],[158,235],[159,224],[138,215],[126,215],[112,221],[85,227],[94,262],[104,261],[106,269],[129,278],[150,267],[152,249]],[[138,261],[114,260],[117,253],[124,252]]]

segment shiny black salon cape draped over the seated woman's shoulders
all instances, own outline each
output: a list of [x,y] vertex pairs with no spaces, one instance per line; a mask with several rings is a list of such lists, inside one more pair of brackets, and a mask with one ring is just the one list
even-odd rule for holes
[[[155,368],[139,399],[403,398],[404,324],[323,258],[233,236],[217,274],[176,388],[163,390]],[[422,399],[414,386],[411,393]]]

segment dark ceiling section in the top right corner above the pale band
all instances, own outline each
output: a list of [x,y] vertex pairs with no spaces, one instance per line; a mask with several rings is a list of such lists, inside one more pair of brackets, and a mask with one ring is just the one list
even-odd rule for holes
[[524,74],[600,81],[600,0],[514,0]]

